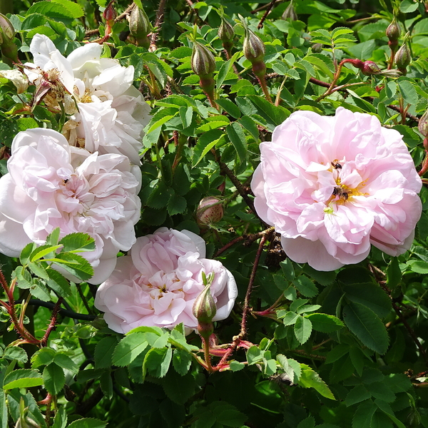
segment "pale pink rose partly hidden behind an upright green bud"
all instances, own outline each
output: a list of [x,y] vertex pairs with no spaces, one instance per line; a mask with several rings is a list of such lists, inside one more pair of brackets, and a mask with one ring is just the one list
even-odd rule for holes
[[204,288],[202,272],[214,273],[213,320],[224,320],[238,295],[233,275],[217,260],[205,258],[205,242],[195,233],[160,228],[138,238],[131,255],[118,258],[113,274],[98,287],[95,306],[105,312],[108,327],[120,333],[141,325],[172,328],[180,322],[195,329],[192,307]]

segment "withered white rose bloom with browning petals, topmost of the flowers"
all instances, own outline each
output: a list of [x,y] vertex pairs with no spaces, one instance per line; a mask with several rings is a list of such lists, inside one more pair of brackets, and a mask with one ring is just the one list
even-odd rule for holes
[[30,44],[34,68],[24,71],[35,82],[40,70],[58,70],[59,79],[76,98],[78,112],[66,128],[69,142],[84,141],[91,153],[119,153],[140,165],[143,128],[151,119],[151,108],[133,86],[133,66],[123,67],[111,58],[101,58],[103,46],[89,43],[64,58],[54,43],[36,34]]

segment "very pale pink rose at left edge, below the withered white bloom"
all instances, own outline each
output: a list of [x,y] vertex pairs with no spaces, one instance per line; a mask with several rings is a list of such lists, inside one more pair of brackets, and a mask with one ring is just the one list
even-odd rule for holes
[[55,228],[61,236],[88,233],[96,243],[82,253],[95,272],[89,282],[106,280],[118,250],[136,242],[141,183],[128,158],[91,154],[56,131],[35,128],[16,135],[7,167],[0,178],[0,252],[17,257]]

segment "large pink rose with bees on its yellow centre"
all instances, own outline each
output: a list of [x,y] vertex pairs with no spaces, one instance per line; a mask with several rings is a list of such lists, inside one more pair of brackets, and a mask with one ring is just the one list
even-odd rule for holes
[[291,260],[335,270],[364,260],[370,244],[393,256],[412,245],[422,182],[402,136],[375,116],[297,111],[260,152],[255,210]]

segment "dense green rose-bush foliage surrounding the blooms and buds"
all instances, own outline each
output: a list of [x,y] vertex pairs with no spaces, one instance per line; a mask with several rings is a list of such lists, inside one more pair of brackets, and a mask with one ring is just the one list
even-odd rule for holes
[[[180,326],[171,332],[141,327],[126,337],[108,330],[93,307],[96,287],[49,282],[38,270],[46,269],[46,255],[32,246],[20,260],[1,256],[2,270],[8,283],[19,277],[13,298],[26,329],[42,338],[52,317],[57,325],[39,346],[20,345],[2,308],[1,428],[428,427],[427,214],[414,246],[399,258],[373,249],[359,265],[317,272],[292,263],[275,234],[263,232],[249,188],[260,141],[269,141],[275,126],[297,110],[331,115],[344,106],[375,114],[402,133],[415,165],[422,164],[417,123],[428,98],[425,2],[294,0],[295,19],[282,19],[290,1],[277,1],[257,29],[267,2],[143,1],[158,34],[151,49],[129,43],[121,15],[128,6],[122,0],[113,5],[118,19],[103,56],[135,67],[135,85],[153,107],[143,139],[137,235],[161,225],[200,233],[207,257],[233,272],[240,293],[235,310],[215,323],[230,365],[207,372],[195,357],[203,357],[200,337],[184,337]],[[233,57],[225,57],[218,39],[221,6],[230,23],[244,16],[263,40],[273,103],[243,56],[242,26],[235,26]],[[9,19],[19,58],[31,61],[29,43],[37,33],[64,55],[103,36],[105,7],[103,0],[15,1]],[[344,58],[387,68],[385,30],[394,14],[399,44],[409,31],[407,74],[364,76],[347,64],[337,81],[341,90],[326,94]],[[215,54],[218,109],[190,67],[189,35]],[[0,69],[9,68],[4,58]],[[30,87],[18,96],[0,78],[1,173],[18,131],[61,131],[60,115],[43,105],[30,111],[33,92]],[[225,215],[200,228],[195,210],[208,195],[224,200]],[[425,187],[421,198],[426,210]],[[56,242],[52,237],[48,244]],[[67,251],[82,245],[73,242]],[[66,310],[53,316],[60,295]],[[4,300],[13,301],[11,295]],[[19,303],[25,300],[24,316]],[[213,365],[218,361],[213,357]]]

